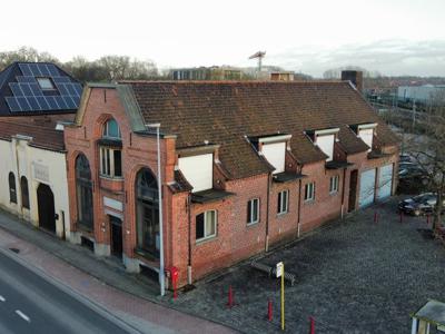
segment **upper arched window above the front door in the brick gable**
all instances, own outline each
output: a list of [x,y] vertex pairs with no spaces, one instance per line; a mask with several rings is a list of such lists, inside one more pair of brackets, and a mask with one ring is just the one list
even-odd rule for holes
[[111,178],[122,177],[120,129],[115,119],[103,125],[102,140],[100,146],[100,175]]

